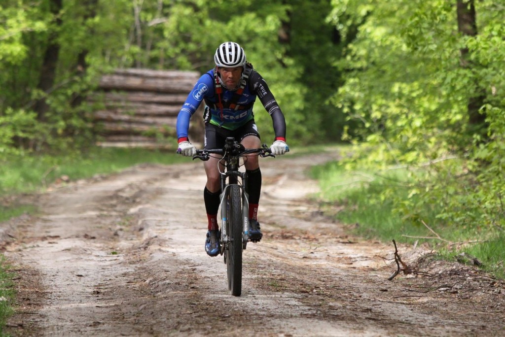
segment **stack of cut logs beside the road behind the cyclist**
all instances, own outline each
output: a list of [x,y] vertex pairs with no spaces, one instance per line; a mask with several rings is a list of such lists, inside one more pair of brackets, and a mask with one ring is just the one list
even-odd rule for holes
[[[93,113],[101,136],[98,145],[173,147],[177,115],[199,76],[197,72],[149,69],[122,69],[103,76],[100,91],[92,97],[105,107]],[[201,111],[196,114],[199,116],[191,119],[189,137],[201,143]]]

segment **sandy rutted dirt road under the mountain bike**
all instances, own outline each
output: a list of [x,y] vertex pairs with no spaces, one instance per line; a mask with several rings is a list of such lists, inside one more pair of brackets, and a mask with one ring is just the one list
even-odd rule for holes
[[244,251],[241,297],[228,292],[222,257],[204,251],[201,162],[140,165],[37,196],[40,216],[3,224],[19,266],[10,333],[505,335],[503,283],[471,267],[424,258],[426,274],[388,281],[392,245],[348,237],[309,198],[318,189],[304,172],[325,158],[262,159],[264,239]]

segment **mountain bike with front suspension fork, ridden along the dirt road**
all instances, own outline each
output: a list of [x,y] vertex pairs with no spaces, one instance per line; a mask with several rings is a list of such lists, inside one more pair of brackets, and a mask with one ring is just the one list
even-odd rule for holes
[[[233,296],[242,292],[242,252],[249,238],[249,196],[247,174],[240,172],[240,159],[245,155],[275,157],[266,144],[258,149],[246,149],[233,137],[226,138],[222,149],[197,150],[193,160],[209,160],[212,155],[222,156],[218,162],[221,175],[221,255],[228,272],[228,290]],[[247,160],[244,158],[242,160]]]

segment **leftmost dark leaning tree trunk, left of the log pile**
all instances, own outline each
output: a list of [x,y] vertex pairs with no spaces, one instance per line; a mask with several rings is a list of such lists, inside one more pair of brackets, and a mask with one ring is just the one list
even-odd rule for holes
[[[56,18],[56,25],[60,27],[62,25],[62,20],[60,17],[62,10],[62,0],[51,0],[49,2],[51,8],[51,14]],[[60,45],[57,42],[58,33],[57,30],[49,35],[49,41],[47,49],[44,54],[44,61],[42,63],[42,69],[40,71],[40,78],[37,88],[44,92],[44,97],[40,98],[34,106],[37,113],[37,118],[41,122],[46,121],[46,113],[49,110],[49,105],[45,99],[45,95],[51,91],[55,84],[56,77],[56,67],[58,65],[58,57],[60,53]]]

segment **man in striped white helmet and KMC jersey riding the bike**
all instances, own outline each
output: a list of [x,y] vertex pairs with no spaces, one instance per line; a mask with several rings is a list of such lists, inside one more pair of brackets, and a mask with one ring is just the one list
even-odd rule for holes
[[[189,142],[189,120],[201,101],[205,101],[204,112],[206,149],[222,148],[226,137],[235,137],[245,148],[261,147],[260,133],[256,126],[252,105],[260,98],[273,121],[275,139],[272,153],[284,154],[286,145],[286,121],[272,92],[263,77],[246,62],[244,50],[235,42],[222,43],[214,55],[216,66],[201,76],[184,102],[177,116],[177,152],[185,156],[196,154],[196,148]],[[220,251],[220,231],[217,214],[220,203],[221,185],[218,158],[204,161],[207,183],[204,189],[204,203],[208,218],[208,232],[205,251],[217,256]],[[261,170],[257,155],[244,160],[249,193],[249,236],[252,242],[263,237],[258,222],[258,204],[261,193]]]

